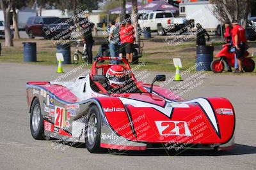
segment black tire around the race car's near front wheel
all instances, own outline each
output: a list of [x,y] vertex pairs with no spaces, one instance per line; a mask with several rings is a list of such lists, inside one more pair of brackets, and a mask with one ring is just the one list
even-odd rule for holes
[[[92,135],[92,120],[94,118],[94,123],[95,123],[95,118],[97,118],[97,123],[96,123],[96,129],[97,131],[95,132],[95,129],[93,129],[93,132],[95,133],[95,139],[92,140],[91,135]],[[101,120],[100,120],[100,112],[97,106],[93,105],[89,112],[88,112],[88,118],[86,119],[86,128],[85,128],[85,146],[87,150],[90,153],[100,153],[103,151],[102,148],[100,148],[100,129],[101,129]]]

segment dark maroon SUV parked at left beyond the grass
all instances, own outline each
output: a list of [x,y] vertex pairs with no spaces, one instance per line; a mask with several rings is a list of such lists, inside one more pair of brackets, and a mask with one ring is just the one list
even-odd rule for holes
[[61,18],[58,17],[29,17],[25,29],[29,38],[40,36],[45,39],[60,39],[68,29],[68,24],[61,23]]

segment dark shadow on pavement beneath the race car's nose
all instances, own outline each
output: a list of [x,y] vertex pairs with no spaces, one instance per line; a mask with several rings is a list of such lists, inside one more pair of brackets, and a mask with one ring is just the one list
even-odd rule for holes
[[145,150],[145,151],[125,151],[116,152],[113,155],[123,156],[223,156],[223,155],[246,155],[256,153],[255,146],[235,144],[232,150],[214,151],[214,150]]

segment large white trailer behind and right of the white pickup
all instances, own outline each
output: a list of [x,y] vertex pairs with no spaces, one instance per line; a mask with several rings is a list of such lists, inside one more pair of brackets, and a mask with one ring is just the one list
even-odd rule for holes
[[180,17],[185,17],[187,20],[195,20],[196,24],[201,24],[207,31],[217,31],[220,33],[221,22],[215,17],[214,4],[209,1],[197,1],[180,3]]

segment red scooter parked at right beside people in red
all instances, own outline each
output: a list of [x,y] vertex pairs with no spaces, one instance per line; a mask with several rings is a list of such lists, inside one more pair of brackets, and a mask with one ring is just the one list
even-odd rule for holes
[[[220,59],[214,60],[211,62],[211,69],[214,73],[222,73],[222,71],[225,68],[224,61],[227,62],[230,68],[234,67],[235,53],[230,52],[230,50],[228,50],[229,45],[230,44],[223,45],[222,50],[218,52],[217,55],[215,56],[216,58],[220,58]],[[243,70],[245,72],[252,72],[255,69],[255,63],[252,60],[252,57],[248,57],[248,55],[249,55],[249,52],[246,51],[242,59]]]

